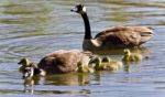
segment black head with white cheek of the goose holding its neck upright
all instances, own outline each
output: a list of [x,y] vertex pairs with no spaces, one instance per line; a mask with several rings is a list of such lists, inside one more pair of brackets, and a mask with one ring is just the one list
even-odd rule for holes
[[70,11],[82,14],[86,12],[86,7],[84,7],[84,4],[77,4]]

